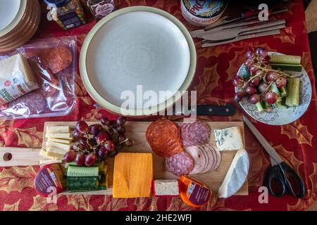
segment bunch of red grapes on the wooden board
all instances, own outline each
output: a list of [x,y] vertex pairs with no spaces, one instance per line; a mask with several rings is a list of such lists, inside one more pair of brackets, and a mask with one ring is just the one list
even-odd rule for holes
[[133,141],[125,137],[125,121],[125,117],[119,117],[118,120],[103,117],[101,124],[104,126],[88,126],[85,121],[77,122],[73,131],[76,141],[73,143],[73,149],[64,155],[64,160],[75,160],[77,166],[91,167],[96,162],[115,157],[123,146],[131,147]]

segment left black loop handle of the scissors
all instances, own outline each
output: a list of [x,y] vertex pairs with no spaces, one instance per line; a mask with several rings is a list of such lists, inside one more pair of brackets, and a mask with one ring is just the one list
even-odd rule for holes
[[268,191],[270,191],[274,197],[282,197],[282,195],[285,195],[285,179],[278,165],[274,165],[269,169],[267,183]]

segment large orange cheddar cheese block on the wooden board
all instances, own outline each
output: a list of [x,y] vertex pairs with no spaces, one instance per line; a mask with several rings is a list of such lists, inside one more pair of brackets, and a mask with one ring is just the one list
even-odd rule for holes
[[151,197],[151,153],[119,153],[113,169],[113,198]]

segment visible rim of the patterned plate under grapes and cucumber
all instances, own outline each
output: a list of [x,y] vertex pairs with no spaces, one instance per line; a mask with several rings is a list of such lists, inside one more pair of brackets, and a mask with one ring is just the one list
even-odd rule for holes
[[[278,52],[268,52],[269,55],[272,55],[272,54],[277,54],[277,55],[285,55],[283,53],[278,53]],[[242,66],[243,66],[243,63],[242,65],[240,66],[239,70],[237,71],[237,75],[240,75],[240,71],[242,69]],[[309,79],[309,75],[308,73],[306,72],[306,70],[304,69],[304,67],[302,68],[302,73],[304,76],[306,76],[308,79],[307,79],[307,84],[309,86],[311,86],[311,80]],[[235,91],[237,90],[237,88],[235,87]],[[312,90],[311,90],[312,91]],[[293,117],[292,120],[289,120],[289,122],[277,122],[276,120],[273,120],[273,121],[265,121],[265,120],[260,120],[259,118],[257,117],[254,117],[254,115],[251,114],[251,112],[249,112],[249,110],[247,110],[246,108],[244,108],[244,105],[240,102],[240,106],[241,108],[244,110],[244,112],[246,112],[250,117],[252,117],[254,120],[256,121],[259,121],[259,122],[262,122],[263,124],[268,124],[268,125],[274,125],[274,126],[281,126],[281,125],[285,125],[285,124],[290,124],[296,120],[298,120],[300,117],[302,117],[302,115],[304,115],[304,113],[306,113],[306,110],[309,108],[309,105],[311,103],[311,96],[312,96],[312,93],[311,91],[309,92],[309,101],[308,103],[306,103],[305,105],[299,105],[297,107],[294,107],[294,108],[298,108],[298,107],[302,107],[303,110],[302,110],[302,113],[297,115],[297,117]],[[255,106],[254,106],[255,107]],[[294,119],[296,118],[296,119]]]

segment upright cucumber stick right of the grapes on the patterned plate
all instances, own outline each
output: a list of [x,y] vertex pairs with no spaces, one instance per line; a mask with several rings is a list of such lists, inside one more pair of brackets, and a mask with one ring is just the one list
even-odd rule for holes
[[299,105],[299,91],[301,86],[301,80],[299,78],[288,79],[287,82],[287,97],[285,105],[287,106],[297,106]]

